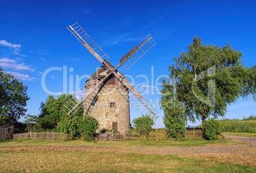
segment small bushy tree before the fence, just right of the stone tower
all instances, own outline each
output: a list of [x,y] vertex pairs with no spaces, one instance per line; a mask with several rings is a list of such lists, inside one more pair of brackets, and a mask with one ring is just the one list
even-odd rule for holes
[[154,123],[155,117],[150,116],[150,114],[142,115],[141,117],[134,118],[132,123],[134,124],[134,128],[139,134],[144,137],[148,136],[149,132],[153,130],[152,126]]

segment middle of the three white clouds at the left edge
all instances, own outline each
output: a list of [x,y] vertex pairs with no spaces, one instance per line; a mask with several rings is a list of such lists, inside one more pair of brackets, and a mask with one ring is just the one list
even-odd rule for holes
[[15,71],[34,71],[30,66],[25,65],[23,62],[18,64],[16,60],[0,59],[0,66],[4,69],[11,69]]

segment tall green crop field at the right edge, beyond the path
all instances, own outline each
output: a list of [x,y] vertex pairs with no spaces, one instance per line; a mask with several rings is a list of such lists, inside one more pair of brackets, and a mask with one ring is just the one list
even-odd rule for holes
[[256,120],[220,120],[222,132],[256,133]]

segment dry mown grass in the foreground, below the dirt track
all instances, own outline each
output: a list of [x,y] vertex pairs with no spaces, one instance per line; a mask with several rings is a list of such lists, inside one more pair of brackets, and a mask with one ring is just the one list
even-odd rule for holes
[[0,150],[0,155],[1,172],[256,172],[230,162],[173,155],[26,149]]

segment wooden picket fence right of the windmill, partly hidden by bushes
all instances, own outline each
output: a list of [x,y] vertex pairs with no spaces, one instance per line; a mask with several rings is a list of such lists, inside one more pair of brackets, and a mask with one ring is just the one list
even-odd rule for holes
[[[144,137],[145,138],[145,137]],[[203,129],[194,128],[185,131],[184,139],[202,139]],[[130,132],[127,134],[119,134],[117,132],[106,131],[104,134],[97,136],[98,141],[138,141],[143,139],[143,136],[137,132]],[[174,140],[176,138],[169,137],[166,129],[155,129],[146,137],[148,140]]]

